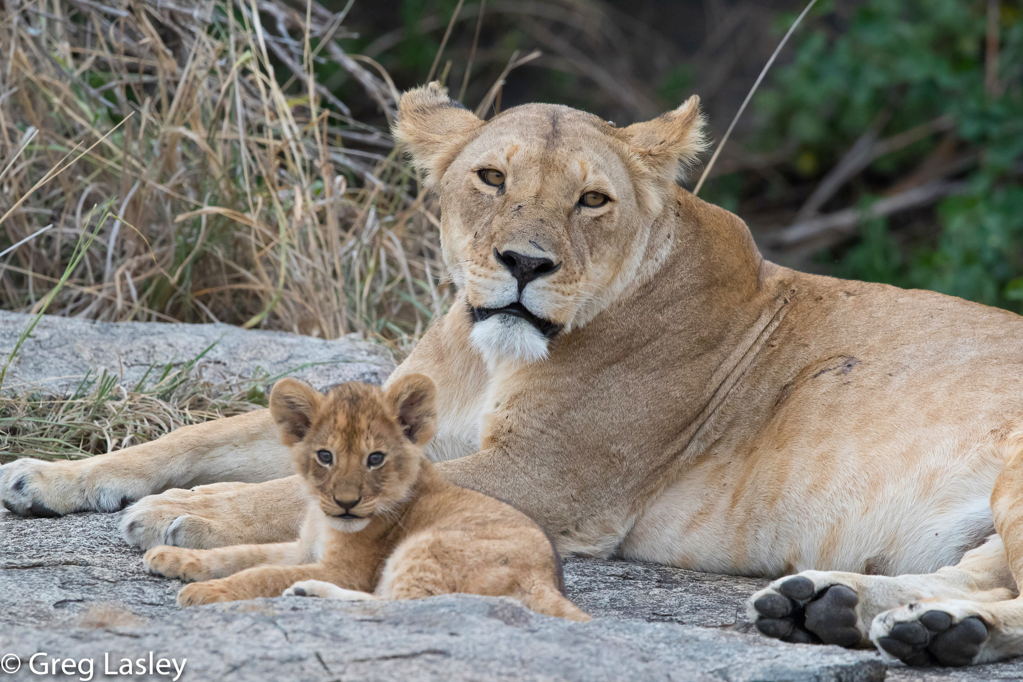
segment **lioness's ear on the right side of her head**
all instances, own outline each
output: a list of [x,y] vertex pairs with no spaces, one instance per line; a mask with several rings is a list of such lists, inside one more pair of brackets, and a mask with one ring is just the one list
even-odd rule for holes
[[653,121],[634,123],[622,134],[635,148],[639,163],[659,177],[681,177],[707,147],[700,98],[693,95],[674,111]]

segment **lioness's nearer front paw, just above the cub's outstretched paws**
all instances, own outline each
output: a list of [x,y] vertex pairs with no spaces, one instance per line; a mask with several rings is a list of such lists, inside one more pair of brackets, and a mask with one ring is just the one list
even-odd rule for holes
[[121,519],[121,533],[134,547],[159,545],[212,549],[244,543],[233,526],[201,515],[216,512],[203,488],[175,488],[136,502]]

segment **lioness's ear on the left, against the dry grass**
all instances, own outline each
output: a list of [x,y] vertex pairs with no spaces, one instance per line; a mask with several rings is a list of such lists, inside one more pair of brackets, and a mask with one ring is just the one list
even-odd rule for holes
[[448,97],[447,88],[434,81],[401,96],[392,132],[405,143],[412,164],[426,173],[427,185],[435,187],[482,125],[483,121]]

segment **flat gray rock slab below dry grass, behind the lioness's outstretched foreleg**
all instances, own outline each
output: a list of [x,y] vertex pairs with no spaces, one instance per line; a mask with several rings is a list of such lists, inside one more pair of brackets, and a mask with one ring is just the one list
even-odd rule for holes
[[[0,366],[31,320],[31,315],[0,311]],[[25,391],[28,384],[63,395],[89,370],[93,376],[105,370],[130,388],[146,372],[151,379],[167,364],[180,367],[207,349],[195,370],[215,383],[288,373],[322,389],[350,380],[381,383],[394,369],[386,348],[357,334],[325,340],[229,324],[96,322],[44,315],[11,363],[3,388]]]

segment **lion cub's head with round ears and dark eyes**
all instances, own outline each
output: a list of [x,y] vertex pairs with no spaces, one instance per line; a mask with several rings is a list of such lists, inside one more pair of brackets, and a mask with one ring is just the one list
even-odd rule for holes
[[422,374],[386,394],[356,381],[326,395],[295,379],[274,384],[281,441],[332,528],[357,533],[408,497],[436,428],[435,394]]

